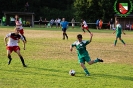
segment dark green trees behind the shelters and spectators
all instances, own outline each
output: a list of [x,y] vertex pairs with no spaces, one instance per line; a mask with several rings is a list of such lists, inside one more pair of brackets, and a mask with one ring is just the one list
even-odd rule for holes
[[[95,22],[98,18],[104,22],[114,17],[116,0],[0,0],[0,18],[3,11],[24,12],[25,3],[29,3],[29,12],[35,13],[35,20],[65,17],[68,21],[85,19]],[[129,0],[126,0],[129,1]]]

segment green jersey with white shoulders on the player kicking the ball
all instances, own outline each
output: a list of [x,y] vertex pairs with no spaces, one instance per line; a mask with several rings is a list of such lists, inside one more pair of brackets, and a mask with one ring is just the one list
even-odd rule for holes
[[79,58],[83,58],[85,56],[88,56],[88,51],[86,50],[86,45],[89,44],[90,41],[85,41],[85,40],[82,40],[82,42],[79,42],[79,41],[75,41],[73,44],[72,44],[72,47],[76,47],[77,49],[77,53],[78,53],[78,57]]

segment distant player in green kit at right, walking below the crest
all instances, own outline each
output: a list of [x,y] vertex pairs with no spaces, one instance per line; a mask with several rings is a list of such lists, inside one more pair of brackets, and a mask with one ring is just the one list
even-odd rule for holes
[[124,41],[122,40],[122,38],[121,38],[122,32],[123,32],[124,35],[125,35],[125,33],[124,33],[124,31],[122,30],[121,24],[119,23],[118,20],[116,20],[116,30],[113,32],[113,34],[114,34],[115,32],[116,32],[116,40],[115,40],[115,42],[114,42],[114,46],[116,46],[116,43],[117,43],[118,38],[119,38],[119,40],[120,40],[124,45],[126,45],[125,42],[124,42]]

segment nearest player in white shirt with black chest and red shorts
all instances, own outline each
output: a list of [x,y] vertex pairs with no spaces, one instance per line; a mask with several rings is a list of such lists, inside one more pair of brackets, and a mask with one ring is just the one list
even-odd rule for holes
[[[8,42],[7,42],[7,38],[9,38]],[[12,61],[11,53],[12,53],[12,51],[14,51],[20,57],[23,67],[27,67],[25,65],[22,55],[20,54],[20,47],[18,46],[19,39],[21,39],[23,41],[23,44],[24,44],[23,49],[25,50],[25,40],[24,40],[23,36],[19,34],[18,28],[16,28],[15,32],[7,34],[6,37],[4,38],[4,42],[5,42],[6,49],[7,49],[7,56],[9,58],[8,65]]]

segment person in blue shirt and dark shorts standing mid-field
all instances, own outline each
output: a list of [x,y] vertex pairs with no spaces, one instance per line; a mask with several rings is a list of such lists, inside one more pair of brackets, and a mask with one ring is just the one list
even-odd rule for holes
[[65,40],[65,37],[68,39],[68,35],[66,33],[67,27],[68,27],[68,22],[65,21],[65,18],[62,18],[62,21],[60,23],[63,31],[63,40]]

